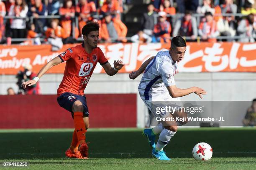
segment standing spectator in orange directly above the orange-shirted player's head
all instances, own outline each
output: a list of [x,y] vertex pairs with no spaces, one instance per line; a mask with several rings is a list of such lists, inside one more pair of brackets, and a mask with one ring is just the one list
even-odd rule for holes
[[95,3],[91,0],[79,0],[79,4],[76,6],[76,15],[79,20],[79,30],[82,34],[82,28],[88,22],[93,20],[92,16],[96,15]]

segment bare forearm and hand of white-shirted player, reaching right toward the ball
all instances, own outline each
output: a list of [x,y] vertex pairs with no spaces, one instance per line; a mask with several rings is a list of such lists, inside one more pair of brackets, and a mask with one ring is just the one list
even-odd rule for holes
[[199,97],[202,99],[202,95],[207,94],[207,92],[200,87],[190,87],[187,89],[180,89],[176,87],[176,85],[172,85],[172,86],[168,86],[167,89],[169,91],[169,94],[172,96],[172,98],[182,97],[185,95],[189,95],[192,92],[195,92],[195,94],[199,95]]

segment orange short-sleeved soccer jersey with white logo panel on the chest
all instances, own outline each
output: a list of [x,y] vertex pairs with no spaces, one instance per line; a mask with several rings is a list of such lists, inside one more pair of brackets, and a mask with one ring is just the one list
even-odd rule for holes
[[58,96],[64,92],[84,95],[84,89],[90,80],[97,62],[101,65],[108,62],[100,47],[94,48],[88,54],[84,50],[84,43],[67,49],[59,57],[62,62],[67,62],[63,79],[57,90]]

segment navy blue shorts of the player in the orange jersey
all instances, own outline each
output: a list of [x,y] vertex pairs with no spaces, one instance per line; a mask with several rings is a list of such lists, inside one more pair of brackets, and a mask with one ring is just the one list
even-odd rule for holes
[[71,92],[64,92],[59,97],[57,97],[57,102],[61,107],[71,112],[72,117],[74,118],[74,112],[72,112],[72,107],[75,101],[79,100],[82,102],[82,105],[84,106],[84,115],[83,117],[89,117],[89,110],[86,103],[86,97],[85,95],[75,95]]

